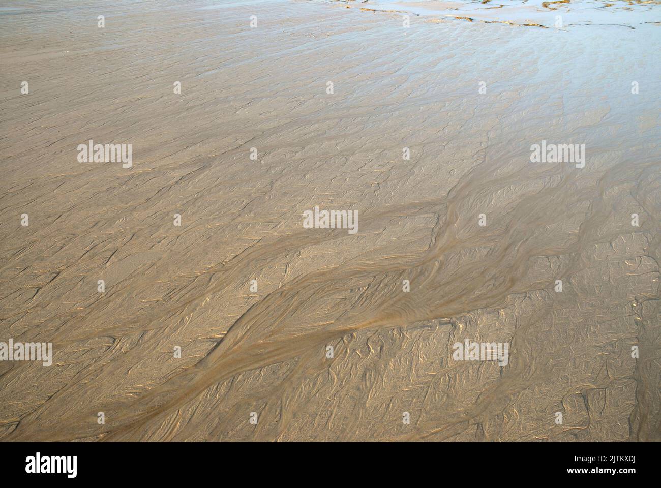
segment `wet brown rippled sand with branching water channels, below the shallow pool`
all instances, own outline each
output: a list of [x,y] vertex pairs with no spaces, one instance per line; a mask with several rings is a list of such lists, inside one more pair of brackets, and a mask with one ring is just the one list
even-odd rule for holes
[[660,440],[657,26],[85,4],[0,11],[2,440]]

